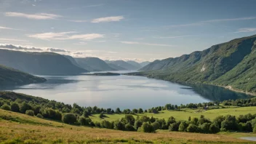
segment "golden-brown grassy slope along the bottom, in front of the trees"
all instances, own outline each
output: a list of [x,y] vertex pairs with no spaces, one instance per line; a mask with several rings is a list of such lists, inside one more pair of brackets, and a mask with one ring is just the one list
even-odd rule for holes
[[78,127],[0,110],[0,143],[253,143],[237,137],[236,133],[143,133]]

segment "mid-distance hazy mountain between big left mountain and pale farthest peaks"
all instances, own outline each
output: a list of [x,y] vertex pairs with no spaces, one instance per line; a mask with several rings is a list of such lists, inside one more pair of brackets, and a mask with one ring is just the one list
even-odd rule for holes
[[97,57],[76,57],[74,59],[76,63],[81,65],[81,68],[85,68],[89,71],[116,71],[115,68],[111,68],[105,61]]

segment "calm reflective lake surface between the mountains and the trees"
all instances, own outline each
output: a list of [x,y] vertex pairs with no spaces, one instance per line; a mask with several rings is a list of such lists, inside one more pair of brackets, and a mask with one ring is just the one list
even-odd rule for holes
[[100,108],[152,108],[171,103],[204,103],[247,95],[209,85],[180,85],[142,76],[44,76],[42,84],[9,90],[63,103]]

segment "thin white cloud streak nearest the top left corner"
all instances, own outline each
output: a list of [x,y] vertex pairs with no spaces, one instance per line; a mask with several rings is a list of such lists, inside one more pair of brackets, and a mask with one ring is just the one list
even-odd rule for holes
[[54,15],[54,14],[47,14],[47,13],[25,14],[20,12],[6,12],[5,15],[7,17],[25,17],[25,18],[34,19],[34,20],[54,20],[58,17],[62,17],[61,15]]

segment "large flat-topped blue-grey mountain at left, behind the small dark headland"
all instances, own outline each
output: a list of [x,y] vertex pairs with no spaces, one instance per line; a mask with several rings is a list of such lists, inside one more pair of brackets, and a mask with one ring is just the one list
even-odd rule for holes
[[0,64],[37,75],[73,75],[87,72],[53,52],[20,52],[0,49]]

